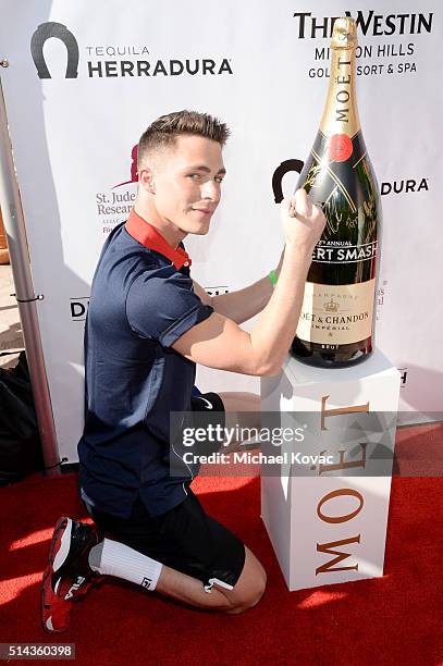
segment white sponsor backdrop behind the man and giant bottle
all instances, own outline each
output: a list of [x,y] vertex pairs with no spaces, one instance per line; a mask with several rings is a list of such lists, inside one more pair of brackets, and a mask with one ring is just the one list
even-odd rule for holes
[[[282,247],[272,174],[310,150],[331,17],[345,11],[360,22],[358,106],[383,193],[377,345],[402,369],[401,408],[418,419],[443,395],[441,3],[2,0],[0,57],[10,66],[1,79],[35,292],[45,295],[37,307],[59,449],[70,461],[90,281],[107,234],[127,217],[139,135],[184,108],[227,123],[223,201],[209,235],[186,242],[193,275],[223,293],[267,274]],[[296,178],[285,176],[286,193]],[[258,391],[256,378],[205,368],[198,385]]]

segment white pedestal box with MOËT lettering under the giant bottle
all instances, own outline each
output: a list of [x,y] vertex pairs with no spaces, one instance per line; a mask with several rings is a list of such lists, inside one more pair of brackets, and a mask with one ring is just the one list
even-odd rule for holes
[[290,590],[383,575],[399,383],[378,350],[261,379],[262,429],[282,435],[262,446],[261,517]]

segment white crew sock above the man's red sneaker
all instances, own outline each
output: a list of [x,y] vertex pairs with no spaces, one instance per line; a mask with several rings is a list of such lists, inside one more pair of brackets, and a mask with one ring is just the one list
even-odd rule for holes
[[103,539],[91,548],[89,566],[102,576],[116,576],[147,590],[155,590],[163,565],[124,543]]

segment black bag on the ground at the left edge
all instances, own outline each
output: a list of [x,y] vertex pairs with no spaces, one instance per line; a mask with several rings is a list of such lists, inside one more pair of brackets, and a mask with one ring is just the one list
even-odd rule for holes
[[0,368],[0,486],[42,468],[29,370],[21,351],[15,368]]

